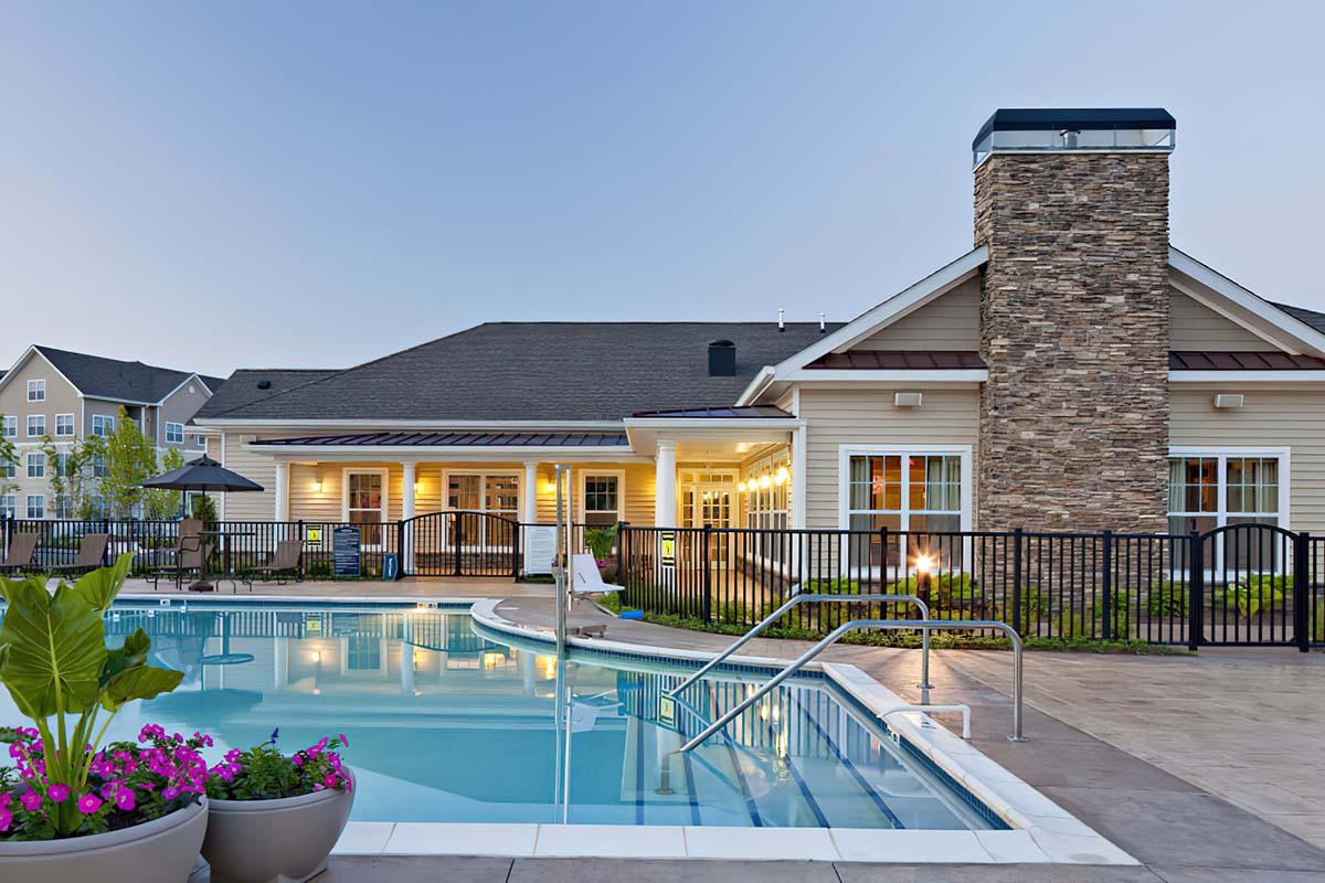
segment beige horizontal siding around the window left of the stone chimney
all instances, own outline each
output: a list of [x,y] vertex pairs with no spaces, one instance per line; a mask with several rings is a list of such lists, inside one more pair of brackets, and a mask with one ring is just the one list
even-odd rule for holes
[[[841,445],[970,445],[974,451],[979,437],[978,391],[924,389],[921,408],[894,408],[894,392],[802,387],[800,418],[807,424],[806,527],[839,526]],[[970,481],[974,488],[975,477]]]

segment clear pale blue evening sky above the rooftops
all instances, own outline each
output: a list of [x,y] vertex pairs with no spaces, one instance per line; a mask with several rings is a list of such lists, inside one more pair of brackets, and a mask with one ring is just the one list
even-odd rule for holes
[[970,248],[999,106],[1167,107],[1174,244],[1325,310],[1322,8],[0,0],[0,363],[844,319]]

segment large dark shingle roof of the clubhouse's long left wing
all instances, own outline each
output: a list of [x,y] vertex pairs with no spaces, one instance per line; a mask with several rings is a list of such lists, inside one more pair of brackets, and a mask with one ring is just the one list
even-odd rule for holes
[[[735,343],[735,376],[709,376],[719,338]],[[497,322],[305,383],[282,379],[284,391],[278,372],[240,371],[197,417],[580,421],[727,406],[762,367],[819,339],[808,322],[782,332],[772,322]],[[260,377],[273,381],[265,395]]]

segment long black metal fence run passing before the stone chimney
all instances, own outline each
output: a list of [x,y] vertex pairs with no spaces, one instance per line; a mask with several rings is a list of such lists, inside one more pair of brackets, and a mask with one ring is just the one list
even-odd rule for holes
[[[1189,535],[624,526],[619,547],[623,604],[706,625],[754,625],[792,592],[905,593],[935,618],[999,620],[1040,638],[1325,643],[1325,537],[1269,524]],[[881,616],[914,609],[802,605],[776,627],[822,635]]]

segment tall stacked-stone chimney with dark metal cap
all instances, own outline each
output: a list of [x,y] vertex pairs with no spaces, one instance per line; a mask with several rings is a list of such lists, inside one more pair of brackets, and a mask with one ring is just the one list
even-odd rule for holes
[[1163,110],[999,110],[975,138],[979,522],[1167,532]]

